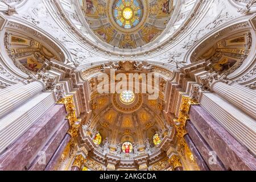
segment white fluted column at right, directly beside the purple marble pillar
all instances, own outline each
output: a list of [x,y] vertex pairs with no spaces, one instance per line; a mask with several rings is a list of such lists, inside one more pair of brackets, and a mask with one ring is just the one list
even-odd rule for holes
[[[204,108],[234,138],[256,155],[256,122],[217,93],[202,93],[200,106]],[[194,123],[193,123],[194,124]]]

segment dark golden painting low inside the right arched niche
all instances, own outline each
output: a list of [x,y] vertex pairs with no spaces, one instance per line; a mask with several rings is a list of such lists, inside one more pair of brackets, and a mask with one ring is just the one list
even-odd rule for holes
[[213,63],[212,68],[215,71],[224,72],[224,71],[228,71],[236,63],[237,63],[237,60],[234,60],[234,59],[229,58],[229,57],[223,57],[217,63]]

